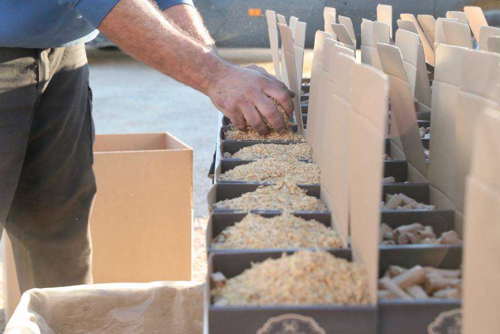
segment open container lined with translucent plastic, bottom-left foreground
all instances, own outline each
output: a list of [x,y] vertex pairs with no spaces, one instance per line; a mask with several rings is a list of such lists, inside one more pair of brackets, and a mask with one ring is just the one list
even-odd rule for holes
[[185,281],[31,289],[4,332],[201,334],[203,290]]

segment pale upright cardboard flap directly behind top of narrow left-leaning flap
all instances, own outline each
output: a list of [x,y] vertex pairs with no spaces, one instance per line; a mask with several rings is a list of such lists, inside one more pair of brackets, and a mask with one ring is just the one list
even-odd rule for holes
[[361,63],[381,70],[376,45],[390,43],[390,27],[383,22],[361,22]]

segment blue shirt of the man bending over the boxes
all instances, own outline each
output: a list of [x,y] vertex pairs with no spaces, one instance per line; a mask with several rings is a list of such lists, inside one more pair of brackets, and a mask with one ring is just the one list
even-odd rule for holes
[[[0,47],[48,49],[91,41],[118,0],[0,0]],[[192,0],[156,0],[165,10]]]

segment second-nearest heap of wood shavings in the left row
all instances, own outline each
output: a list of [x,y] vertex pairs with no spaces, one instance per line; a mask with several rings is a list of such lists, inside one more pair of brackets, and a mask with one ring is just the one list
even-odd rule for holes
[[339,248],[337,233],[320,222],[290,213],[265,218],[247,214],[213,239],[215,249]]

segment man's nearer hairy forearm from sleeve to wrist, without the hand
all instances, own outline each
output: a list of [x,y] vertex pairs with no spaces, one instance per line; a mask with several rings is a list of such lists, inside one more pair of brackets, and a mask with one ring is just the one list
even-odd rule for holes
[[147,0],[120,0],[98,29],[132,57],[206,95],[229,66],[175,29]]

